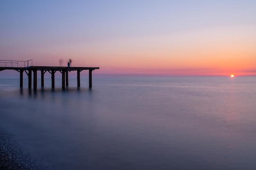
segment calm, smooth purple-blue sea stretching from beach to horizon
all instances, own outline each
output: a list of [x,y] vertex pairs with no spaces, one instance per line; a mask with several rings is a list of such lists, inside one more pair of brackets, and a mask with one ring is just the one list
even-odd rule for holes
[[0,79],[0,126],[54,169],[256,169],[256,78],[26,83]]

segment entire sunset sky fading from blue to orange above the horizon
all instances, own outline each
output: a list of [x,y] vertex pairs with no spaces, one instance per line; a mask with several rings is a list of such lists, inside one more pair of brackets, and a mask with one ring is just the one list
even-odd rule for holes
[[256,0],[1,0],[0,60],[71,59],[102,75],[256,76],[255,9]]

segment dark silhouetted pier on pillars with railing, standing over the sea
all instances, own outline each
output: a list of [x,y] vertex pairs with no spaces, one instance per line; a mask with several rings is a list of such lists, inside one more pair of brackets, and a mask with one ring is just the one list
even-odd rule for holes
[[[44,87],[44,74],[49,72],[52,78],[52,88],[55,86],[55,76],[54,74],[59,71],[62,74],[62,89],[68,86],[68,73],[71,71],[77,72],[77,87],[80,87],[80,72],[83,70],[89,70],[89,87],[92,87],[92,71],[99,69],[99,67],[51,67],[51,66],[28,66],[29,61],[11,61],[11,60],[0,60],[0,63],[5,63],[5,67],[0,67],[2,70],[16,70],[20,72],[20,87],[23,87],[23,73],[25,72],[28,76],[28,88],[31,89],[32,86],[32,72],[33,72],[33,88],[37,88],[37,72],[41,72],[41,87]],[[19,62],[27,63],[27,67],[18,67]],[[11,64],[11,67],[7,67],[7,63]],[[13,67],[13,64],[17,64],[17,67]]]

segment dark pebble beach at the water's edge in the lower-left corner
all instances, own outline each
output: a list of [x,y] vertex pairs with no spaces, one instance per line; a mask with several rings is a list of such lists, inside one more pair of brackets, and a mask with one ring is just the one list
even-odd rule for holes
[[6,129],[0,128],[0,170],[52,170],[29,153]]

